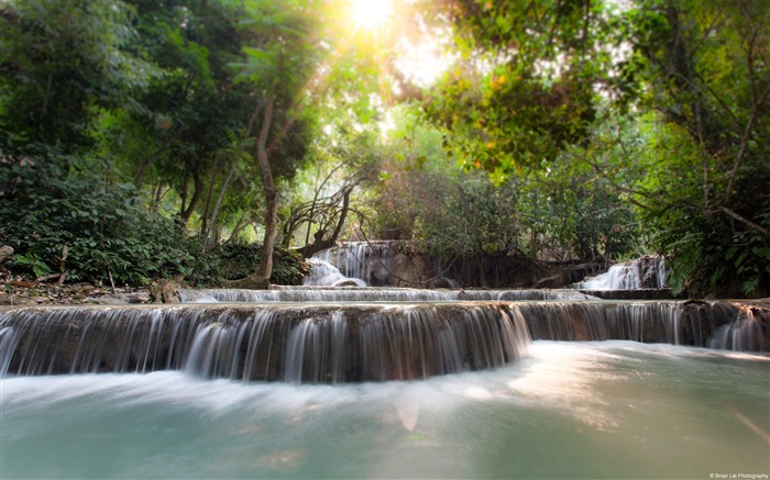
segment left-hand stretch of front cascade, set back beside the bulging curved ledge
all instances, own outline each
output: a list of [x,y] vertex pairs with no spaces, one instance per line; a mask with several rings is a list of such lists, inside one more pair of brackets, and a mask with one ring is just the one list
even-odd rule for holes
[[[0,375],[180,369],[201,310],[23,309],[0,314]],[[9,336],[10,335],[10,336]]]

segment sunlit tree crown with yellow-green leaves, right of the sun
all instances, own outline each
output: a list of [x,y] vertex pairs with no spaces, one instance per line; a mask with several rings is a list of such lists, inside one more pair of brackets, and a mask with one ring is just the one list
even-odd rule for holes
[[494,181],[543,168],[582,142],[612,90],[612,15],[582,0],[442,2],[461,59],[427,97],[427,119],[465,168]]

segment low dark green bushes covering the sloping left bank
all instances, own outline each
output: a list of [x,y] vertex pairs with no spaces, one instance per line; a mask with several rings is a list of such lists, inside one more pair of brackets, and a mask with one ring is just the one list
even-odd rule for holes
[[[260,246],[207,249],[174,220],[145,212],[130,183],[66,170],[46,157],[0,158],[0,243],[15,252],[14,272],[134,286],[184,277],[202,287],[245,277],[262,260]],[[276,249],[272,282],[301,283],[306,274],[297,254]]]

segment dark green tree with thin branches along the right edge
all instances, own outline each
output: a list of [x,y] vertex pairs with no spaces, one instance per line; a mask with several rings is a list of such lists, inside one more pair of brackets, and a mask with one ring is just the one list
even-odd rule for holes
[[656,247],[675,255],[674,288],[738,279],[745,293],[761,291],[770,279],[767,3],[654,1],[629,16],[626,75],[646,86],[642,104],[658,120],[637,201],[659,232]]

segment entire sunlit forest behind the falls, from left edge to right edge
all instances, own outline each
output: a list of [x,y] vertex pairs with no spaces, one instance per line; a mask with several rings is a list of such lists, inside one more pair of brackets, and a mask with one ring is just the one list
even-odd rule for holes
[[769,48],[765,0],[1,0],[3,265],[254,288],[405,239],[768,294]]

